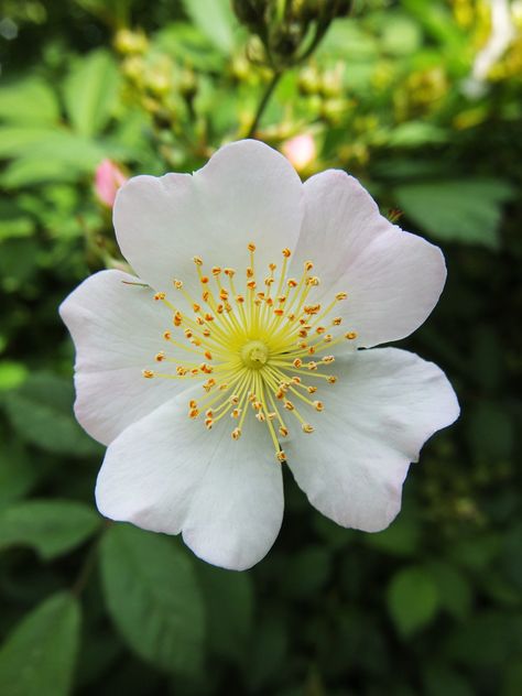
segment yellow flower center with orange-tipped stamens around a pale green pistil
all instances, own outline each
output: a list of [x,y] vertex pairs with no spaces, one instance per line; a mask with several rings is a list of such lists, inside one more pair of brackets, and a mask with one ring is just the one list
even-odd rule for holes
[[204,414],[205,425],[211,429],[228,416],[235,422],[231,437],[239,439],[251,413],[267,425],[275,457],[284,461],[279,438],[290,433],[287,418],[304,433],[313,433],[305,415],[324,410],[314,394],[337,381],[334,374],[322,371],[335,361],[334,356],[323,354],[340,341],[354,342],[357,334],[350,330],[334,337],[330,333],[342,323],[341,317],[331,315],[347,293],[337,293],[326,306],[311,302],[309,295],[319,285],[319,279],[311,273],[311,261],[305,262],[301,278],[290,278],[291,251],[283,249],[279,274],[276,264],[270,263],[259,287],[255,246],[250,243],[248,249],[250,265],[242,292],[236,286],[235,269],[213,267],[210,281],[203,272],[203,260],[194,257],[200,297],[191,296],[183,281],[173,281],[175,292],[183,295],[192,313],[171,302],[164,292],[154,295],[172,312],[175,335],[167,329],[163,338],[178,352],[181,349],[188,355],[180,362],[161,350],[155,361],[175,363],[174,372],[146,369],[142,374],[146,379],[202,380],[202,398],[188,403],[191,418]]

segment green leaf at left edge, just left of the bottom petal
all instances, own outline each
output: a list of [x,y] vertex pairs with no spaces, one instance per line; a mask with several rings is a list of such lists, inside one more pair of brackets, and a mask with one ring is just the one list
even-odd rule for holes
[[101,518],[72,500],[28,500],[0,511],[0,551],[32,546],[47,561],[75,548],[91,536]]

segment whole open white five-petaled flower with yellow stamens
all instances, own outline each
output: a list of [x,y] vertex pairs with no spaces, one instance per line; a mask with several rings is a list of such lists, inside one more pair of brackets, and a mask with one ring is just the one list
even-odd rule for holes
[[108,445],[99,510],[244,569],[279,533],[284,460],[323,514],[384,529],[458,404],[435,365],[357,349],[424,322],[445,282],[439,249],[344,172],[302,184],[257,141],[193,175],[130,180],[115,226],[139,279],[102,271],[61,307],[77,418]]

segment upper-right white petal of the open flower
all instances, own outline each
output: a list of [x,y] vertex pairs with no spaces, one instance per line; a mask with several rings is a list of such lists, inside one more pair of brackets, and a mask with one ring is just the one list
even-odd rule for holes
[[[358,346],[409,336],[429,315],[446,279],[444,257],[434,244],[389,222],[365,188],[340,171],[305,185],[305,219],[294,263],[311,260],[325,303],[348,293],[336,308]],[[312,296],[311,296],[312,298]]]

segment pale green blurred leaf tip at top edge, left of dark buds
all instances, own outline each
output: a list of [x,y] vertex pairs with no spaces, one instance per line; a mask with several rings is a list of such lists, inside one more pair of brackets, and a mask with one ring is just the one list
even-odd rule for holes
[[207,39],[224,53],[233,48],[236,19],[229,0],[182,0],[185,12]]

